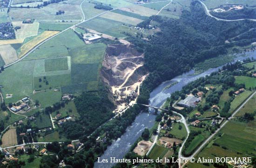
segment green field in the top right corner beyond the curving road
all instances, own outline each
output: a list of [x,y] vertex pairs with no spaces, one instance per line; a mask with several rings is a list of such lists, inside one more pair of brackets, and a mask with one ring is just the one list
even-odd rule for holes
[[203,3],[209,8],[213,9],[216,7],[219,7],[220,5],[225,5],[225,4],[243,4],[248,6],[254,6],[256,5],[256,2],[254,0],[205,0]]

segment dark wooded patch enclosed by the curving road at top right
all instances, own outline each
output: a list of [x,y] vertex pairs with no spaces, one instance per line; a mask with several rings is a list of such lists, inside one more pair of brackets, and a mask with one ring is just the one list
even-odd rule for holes
[[256,19],[256,9],[244,7],[240,10],[230,10],[228,12],[211,12],[211,14],[221,19]]

